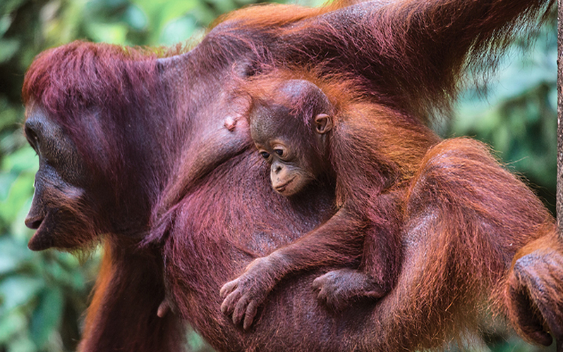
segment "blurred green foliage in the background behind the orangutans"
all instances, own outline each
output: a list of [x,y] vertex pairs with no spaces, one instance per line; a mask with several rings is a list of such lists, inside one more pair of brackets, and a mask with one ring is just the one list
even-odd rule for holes
[[[171,45],[200,37],[217,15],[257,0],[0,1],[0,352],[73,351],[99,255],[27,249],[23,220],[38,163],[21,132],[25,70],[52,46],[87,39],[125,45]],[[260,1],[260,0],[258,0]],[[315,6],[320,0],[301,1]],[[555,13],[554,16],[555,18]],[[472,87],[455,118],[436,129],[489,143],[555,207],[557,34],[555,19],[511,46],[500,76]],[[486,99],[483,100],[483,97]],[[480,348],[535,351],[511,334],[484,334]],[[209,350],[188,332],[193,351]],[[456,348],[452,348],[455,350]]]

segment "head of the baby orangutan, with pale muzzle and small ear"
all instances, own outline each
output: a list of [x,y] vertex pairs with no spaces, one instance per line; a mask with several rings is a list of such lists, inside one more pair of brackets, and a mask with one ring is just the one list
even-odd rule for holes
[[[272,187],[293,196],[327,169],[328,132],[334,110],[313,83],[288,80],[276,99],[257,104],[250,113],[250,136],[258,153],[270,164]],[[314,108],[303,108],[303,102]]]

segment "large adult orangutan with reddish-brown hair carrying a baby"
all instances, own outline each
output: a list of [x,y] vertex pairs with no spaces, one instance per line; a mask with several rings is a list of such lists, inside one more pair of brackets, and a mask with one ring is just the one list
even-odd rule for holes
[[[357,256],[334,256],[275,284],[268,265],[245,271],[331,218],[337,190],[319,182],[294,199],[272,190],[241,82],[278,68],[292,79],[317,77],[335,106],[365,106],[354,125],[377,111],[436,139],[426,116],[447,108],[463,69],[488,62],[483,56],[545,6],[256,6],[227,15],[183,54],[74,42],[38,56],[23,88],[25,134],[40,156],[26,219],[37,229],[30,249],[83,249],[99,239],[105,248],[80,350],[177,351],[189,322],[219,351],[413,351],[476,328],[485,306],[529,341],[562,341],[563,247],[554,221],[471,139],[418,144],[418,134],[397,134],[393,123],[370,127],[377,137],[346,134],[373,138],[404,170],[394,181],[406,184],[402,260],[380,300],[351,301],[336,313],[317,300],[313,280],[350,285],[342,269],[358,268]],[[219,288],[238,275],[271,290],[246,331],[220,309]],[[252,289],[238,285],[241,306]],[[163,300],[171,313],[159,310]]]

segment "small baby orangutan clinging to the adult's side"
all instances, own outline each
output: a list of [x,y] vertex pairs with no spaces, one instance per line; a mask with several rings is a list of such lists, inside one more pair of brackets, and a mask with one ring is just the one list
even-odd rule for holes
[[[384,296],[401,262],[404,170],[373,141],[380,134],[377,128],[412,126],[396,118],[388,121],[385,111],[370,103],[337,108],[308,80],[272,80],[260,82],[270,91],[253,96],[250,111],[250,134],[270,165],[272,188],[291,200],[306,196],[311,182],[328,180],[335,187],[337,212],[298,241],[255,259],[241,277],[224,284],[222,312],[232,314],[235,324],[243,322],[244,329],[274,285],[290,272],[344,267],[313,282],[321,301],[342,310],[352,299]],[[347,118],[349,114],[354,118]],[[353,186],[358,184],[363,187]]]

